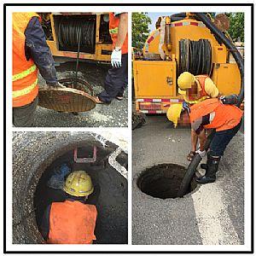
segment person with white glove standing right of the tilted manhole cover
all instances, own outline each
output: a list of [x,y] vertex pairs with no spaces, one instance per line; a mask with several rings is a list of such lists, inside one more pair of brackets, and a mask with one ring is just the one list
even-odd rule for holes
[[128,13],[109,13],[109,33],[113,41],[112,68],[105,79],[105,90],[96,96],[99,104],[123,99],[128,84]]

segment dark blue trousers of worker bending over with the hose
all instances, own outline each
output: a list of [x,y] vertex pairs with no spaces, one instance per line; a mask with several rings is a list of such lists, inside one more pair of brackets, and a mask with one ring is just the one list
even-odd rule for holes
[[241,127],[241,121],[234,128],[225,130],[225,131],[217,131],[210,144],[210,154],[212,156],[222,156],[224,154],[224,150],[227,145],[230,143],[232,137],[234,137],[239,131]]

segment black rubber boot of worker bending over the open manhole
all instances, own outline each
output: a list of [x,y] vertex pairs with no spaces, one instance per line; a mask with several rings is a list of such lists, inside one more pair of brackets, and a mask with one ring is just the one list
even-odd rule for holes
[[218,163],[220,160],[219,157],[212,157],[210,154],[207,155],[207,164],[206,167],[203,169],[206,169],[206,174],[202,177],[197,177],[196,182],[197,183],[214,183],[216,180],[216,172],[218,171]]

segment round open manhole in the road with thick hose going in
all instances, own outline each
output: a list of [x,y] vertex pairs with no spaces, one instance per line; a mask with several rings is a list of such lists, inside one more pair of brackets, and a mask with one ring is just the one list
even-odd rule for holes
[[[176,198],[186,168],[175,164],[161,164],[146,169],[137,179],[137,186],[143,193],[156,198]],[[192,179],[186,194],[196,188]]]

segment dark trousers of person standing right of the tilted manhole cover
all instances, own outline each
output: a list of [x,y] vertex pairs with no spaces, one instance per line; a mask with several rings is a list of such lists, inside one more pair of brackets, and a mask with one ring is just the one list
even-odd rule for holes
[[111,102],[116,96],[123,96],[128,84],[128,54],[122,55],[122,67],[112,67],[105,79],[105,90],[99,94],[102,102]]

